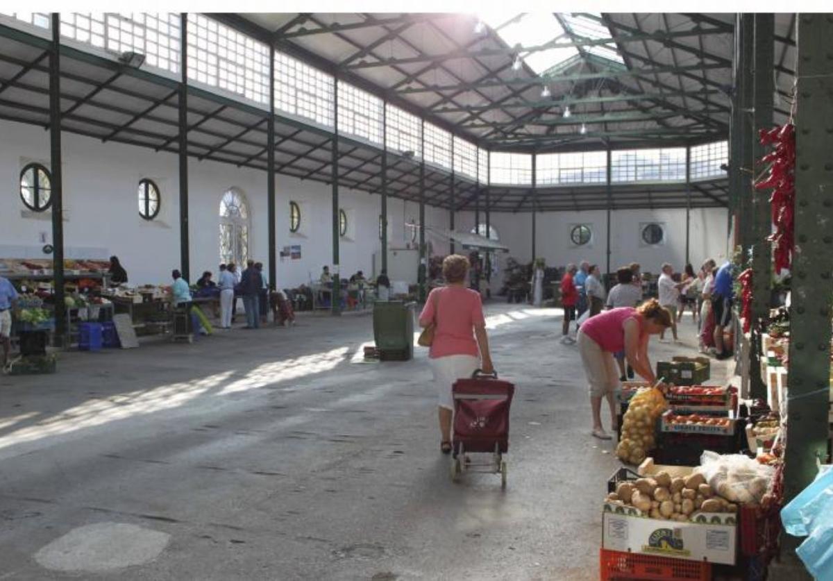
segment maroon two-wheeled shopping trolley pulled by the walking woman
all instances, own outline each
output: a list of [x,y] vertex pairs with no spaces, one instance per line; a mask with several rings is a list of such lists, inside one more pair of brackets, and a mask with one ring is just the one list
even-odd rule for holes
[[[506,459],[509,450],[509,408],[515,385],[497,379],[497,374],[476,370],[470,379],[456,380],[454,398],[454,437],[451,479],[464,471],[501,474],[506,488]],[[491,461],[474,462],[469,454],[491,454]]]

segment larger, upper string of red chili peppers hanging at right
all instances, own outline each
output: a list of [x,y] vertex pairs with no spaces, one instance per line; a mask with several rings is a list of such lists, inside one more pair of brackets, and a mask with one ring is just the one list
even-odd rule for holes
[[787,123],[770,130],[761,129],[758,139],[763,146],[774,146],[774,151],[761,158],[769,163],[769,173],[756,183],[756,190],[772,190],[772,223],[776,231],[767,240],[775,242],[772,260],[776,272],[789,269],[795,246],[794,218],[796,206],[796,127]]

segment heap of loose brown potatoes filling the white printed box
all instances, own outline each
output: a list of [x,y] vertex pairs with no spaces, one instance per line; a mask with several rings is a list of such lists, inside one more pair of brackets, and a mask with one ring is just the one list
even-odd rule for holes
[[667,472],[657,472],[651,478],[621,482],[616,492],[607,495],[613,504],[634,506],[651,519],[685,522],[695,512],[736,513],[737,504],[721,498],[706,484],[703,474],[687,478],[671,478]]

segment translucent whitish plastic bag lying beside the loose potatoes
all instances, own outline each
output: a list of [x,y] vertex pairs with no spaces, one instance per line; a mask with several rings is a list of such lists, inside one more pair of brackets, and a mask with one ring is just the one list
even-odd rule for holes
[[775,469],[744,454],[706,451],[695,471],[706,477],[711,489],[729,502],[760,504],[770,488]]

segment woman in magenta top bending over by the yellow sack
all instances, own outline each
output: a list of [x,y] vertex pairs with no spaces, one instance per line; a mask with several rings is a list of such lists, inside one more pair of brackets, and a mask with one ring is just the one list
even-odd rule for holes
[[671,326],[671,313],[656,299],[646,300],[636,309],[621,307],[606,310],[581,325],[578,350],[590,384],[590,403],[593,411],[593,435],[611,439],[601,427],[601,399],[611,406],[611,429],[616,432],[616,405],[613,392],[619,385],[619,371],[613,354],[625,351],[631,367],[644,380],[656,383],[656,375],[648,360],[648,340]]

